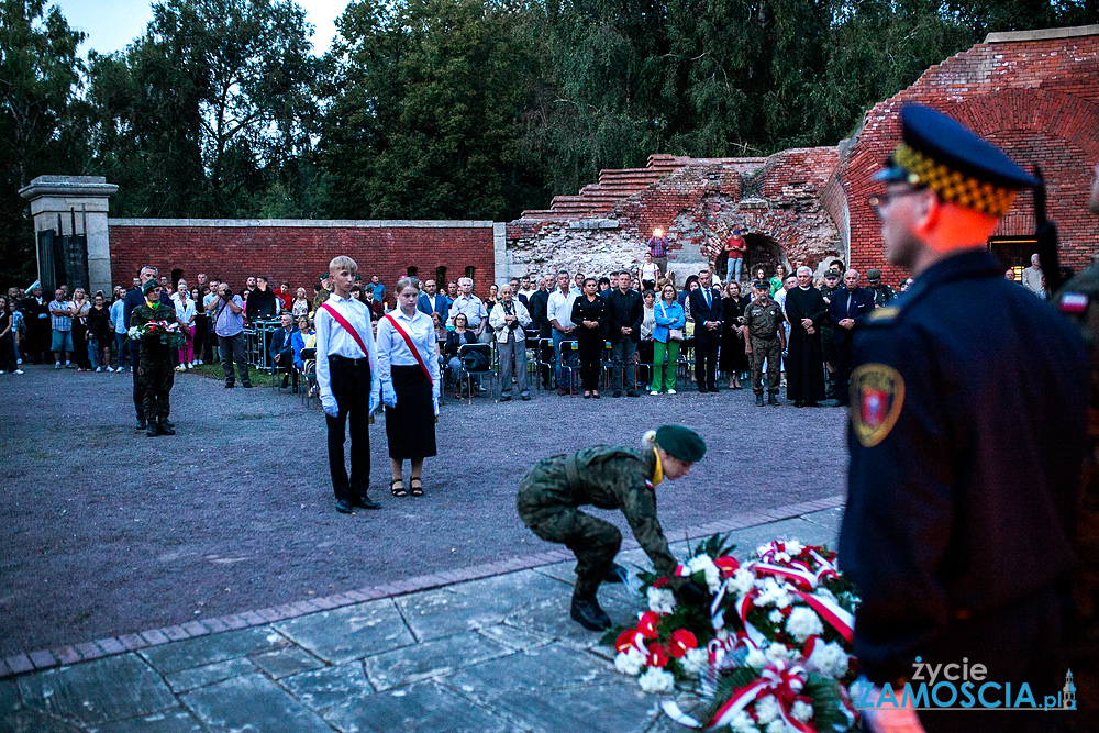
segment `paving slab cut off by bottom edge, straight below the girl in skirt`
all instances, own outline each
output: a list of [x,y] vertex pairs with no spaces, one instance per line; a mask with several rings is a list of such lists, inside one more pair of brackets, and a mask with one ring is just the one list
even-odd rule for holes
[[510,733],[515,730],[509,721],[433,682],[357,698],[325,713],[324,720],[341,733]]

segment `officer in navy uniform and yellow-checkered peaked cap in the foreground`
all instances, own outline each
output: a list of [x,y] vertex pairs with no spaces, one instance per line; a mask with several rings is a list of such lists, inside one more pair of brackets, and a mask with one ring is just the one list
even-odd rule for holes
[[[840,534],[840,563],[862,596],[854,649],[875,685],[893,688],[918,686],[935,665],[979,664],[981,684],[1011,685],[999,707],[1013,708],[1024,682],[1039,701],[1065,684],[1084,346],[988,252],[1015,191],[1040,182],[939,112],[911,105],[900,118],[903,142],[875,176],[887,192],[872,204],[885,258],[915,281],[855,338]],[[928,731],[1057,722],[983,707],[868,719],[885,731],[917,714]]]

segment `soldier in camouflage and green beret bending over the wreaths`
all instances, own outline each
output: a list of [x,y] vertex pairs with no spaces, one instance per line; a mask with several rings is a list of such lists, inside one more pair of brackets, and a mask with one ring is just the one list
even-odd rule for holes
[[624,570],[614,565],[622,533],[610,522],[578,509],[592,504],[621,509],[633,536],[653,562],[656,573],[671,579],[673,589],[692,602],[704,591],[675,576],[676,559],[656,517],[655,487],[665,478],[676,480],[706,454],[698,433],[681,425],[663,425],[644,437],[640,451],[597,445],[577,453],[539,462],[519,485],[517,507],[523,523],[547,542],[576,553],[573,619],[585,629],[609,629],[611,620],[599,607],[599,584],[618,582]]

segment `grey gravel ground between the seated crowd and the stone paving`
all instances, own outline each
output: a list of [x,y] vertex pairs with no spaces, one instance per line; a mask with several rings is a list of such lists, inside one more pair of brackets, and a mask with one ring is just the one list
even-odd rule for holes
[[636,445],[662,423],[709,445],[690,477],[657,489],[671,537],[845,489],[843,411],[761,409],[750,390],[447,400],[421,499],[389,495],[379,421],[371,497],[384,507],[353,517],[334,509],[315,402],[177,375],[178,434],[147,438],[129,374],[32,366],[0,390],[0,655],[542,552],[515,514],[524,470],[593,443]]

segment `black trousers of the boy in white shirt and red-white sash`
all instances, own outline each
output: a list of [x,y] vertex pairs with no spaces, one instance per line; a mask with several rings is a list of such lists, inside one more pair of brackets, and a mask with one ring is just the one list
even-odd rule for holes
[[[332,396],[340,407],[335,418],[324,415],[329,426],[329,470],[336,499],[366,497],[370,488],[370,362],[329,357]],[[345,425],[351,415],[351,480],[344,465]]]

